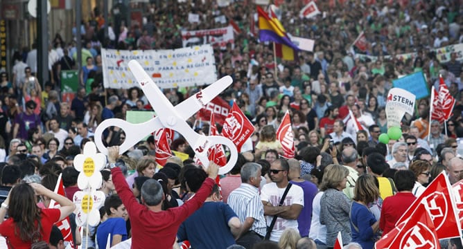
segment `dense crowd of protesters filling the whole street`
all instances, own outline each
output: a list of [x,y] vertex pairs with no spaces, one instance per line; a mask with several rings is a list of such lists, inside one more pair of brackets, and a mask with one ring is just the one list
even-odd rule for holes
[[[439,62],[434,50],[463,42],[456,1],[317,1],[322,13],[312,19],[299,18],[303,1],[285,1],[279,10],[286,31],[314,39],[315,48],[299,51],[295,61],[277,62],[272,44],[259,42],[254,3],[130,4],[146,10],[141,23],[105,21],[96,8],[80,26],[82,37],[76,37],[77,27],[71,42],[57,34],[49,48],[49,82],[35,77],[35,46],[17,51],[12,72],[0,73],[0,216],[8,218],[1,219],[0,234],[9,248],[41,242],[64,248],[53,223],[66,216],[74,243],[94,248],[106,248],[108,234],[114,248],[172,248],[184,241],[191,248],[333,248],[338,232],[345,248],[373,248],[442,170],[452,184],[463,178],[462,55],[453,51],[448,62]],[[201,14],[200,21],[190,23],[189,13]],[[236,102],[255,127],[250,146],[221,176],[220,190],[214,183],[218,165],[210,163],[207,172],[195,165],[195,153],[180,134],[171,149],[188,159],[172,156],[165,165],[156,162],[153,136],[122,155],[117,146],[125,132],[119,127],[94,137],[103,120],[151,110],[137,87],[103,88],[101,48],[180,48],[182,30],[227,26],[215,21],[220,15],[241,30],[225,50],[214,48],[218,77],[234,79],[220,96]],[[352,46],[361,32],[365,51]],[[85,44],[83,66],[78,91],[67,102],[60,72],[76,68],[76,39]],[[438,86],[442,75],[457,100],[452,118],[444,124],[430,120],[430,100],[423,98],[415,115],[403,118],[401,138],[379,142],[387,132],[392,80],[419,71],[428,86]],[[201,87],[164,92],[178,104]],[[295,158],[281,157],[275,134],[286,111]],[[209,133],[207,121],[193,116],[188,122]],[[78,191],[73,158],[95,139],[109,148],[100,188],[107,199],[101,223],[80,234],[71,214]],[[59,174],[67,198],[51,192]],[[62,208],[46,209],[51,199]],[[462,246],[455,239],[442,244]]]

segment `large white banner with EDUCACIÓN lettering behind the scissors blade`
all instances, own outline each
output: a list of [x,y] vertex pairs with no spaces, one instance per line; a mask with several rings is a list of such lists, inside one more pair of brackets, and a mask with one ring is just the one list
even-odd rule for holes
[[139,86],[128,62],[136,59],[160,89],[202,86],[217,80],[211,45],[169,50],[101,49],[103,84],[107,89]]

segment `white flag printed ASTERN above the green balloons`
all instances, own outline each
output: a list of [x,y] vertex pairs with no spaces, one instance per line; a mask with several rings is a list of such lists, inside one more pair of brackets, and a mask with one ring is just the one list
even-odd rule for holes
[[416,96],[409,91],[393,88],[387,94],[386,117],[387,127],[401,127],[405,113],[413,115]]

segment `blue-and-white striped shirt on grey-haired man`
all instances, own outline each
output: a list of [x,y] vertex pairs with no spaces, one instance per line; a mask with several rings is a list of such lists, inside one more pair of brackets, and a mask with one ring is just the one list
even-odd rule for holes
[[242,223],[247,217],[254,218],[250,230],[265,236],[267,224],[265,223],[265,216],[263,216],[263,204],[257,187],[248,183],[241,183],[240,187],[230,193],[227,204],[238,215]]

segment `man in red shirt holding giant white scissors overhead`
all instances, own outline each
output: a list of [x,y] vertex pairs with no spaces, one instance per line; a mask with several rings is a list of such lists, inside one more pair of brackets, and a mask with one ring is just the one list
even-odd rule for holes
[[110,163],[112,181],[132,223],[132,248],[172,248],[180,224],[198,210],[211,194],[218,174],[218,165],[209,163],[209,177],[204,180],[192,199],[180,207],[162,210],[165,197],[161,184],[154,179],[146,181],[141,187],[143,204],[140,204],[127,185],[121,169],[116,167],[118,157],[119,146],[108,148],[107,160]]

